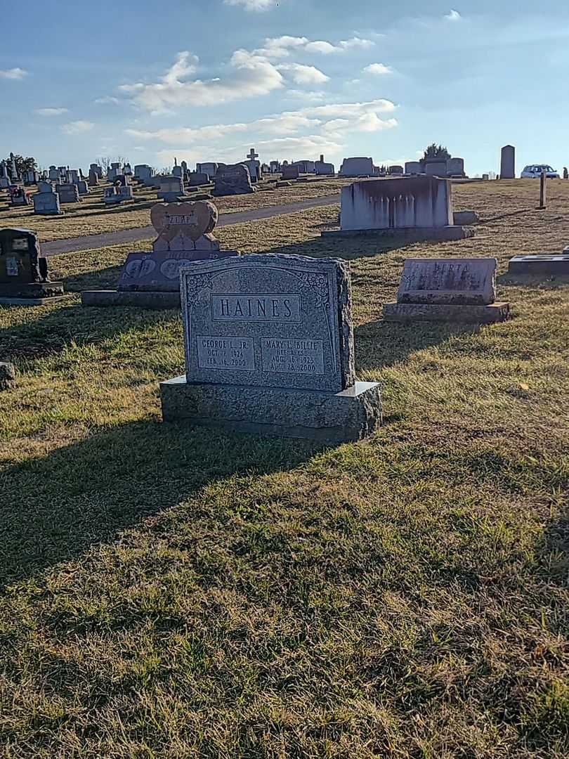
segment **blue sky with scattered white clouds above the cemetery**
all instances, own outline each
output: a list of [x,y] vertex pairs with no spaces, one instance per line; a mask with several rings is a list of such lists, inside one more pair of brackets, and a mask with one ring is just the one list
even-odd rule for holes
[[[448,2],[452,2],[449,7]],[[0,153],[39,165],[416,159],[569,165],[569,4],[0,0]]]

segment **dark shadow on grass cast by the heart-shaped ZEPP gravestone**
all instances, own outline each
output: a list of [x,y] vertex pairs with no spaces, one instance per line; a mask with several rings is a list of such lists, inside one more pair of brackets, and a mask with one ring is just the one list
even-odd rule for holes
[[143,331],[165,320],[180,320],[175,310],[95,308],[71,304],[51,310],[35,320],[0,329],[2,361],[44,358],[58,354],[71,343],[100,345],[130,329]]

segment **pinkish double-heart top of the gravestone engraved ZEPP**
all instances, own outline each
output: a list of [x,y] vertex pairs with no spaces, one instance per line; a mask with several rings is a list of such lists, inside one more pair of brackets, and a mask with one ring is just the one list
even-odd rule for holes
[[152,226],[162,239],[173,240],[178,235],[196,242],[215,228],[218,210],[207,200],[187,203],[156,203],[150,211]]

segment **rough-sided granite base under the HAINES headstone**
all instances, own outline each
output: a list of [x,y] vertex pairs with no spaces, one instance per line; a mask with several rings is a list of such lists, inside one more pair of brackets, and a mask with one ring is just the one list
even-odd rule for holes
[[382,424],[378,383],[355,383],[341,392],[188,384],[186,376],[160,383],[164,421],[234,432],[322,442],[364,439]]

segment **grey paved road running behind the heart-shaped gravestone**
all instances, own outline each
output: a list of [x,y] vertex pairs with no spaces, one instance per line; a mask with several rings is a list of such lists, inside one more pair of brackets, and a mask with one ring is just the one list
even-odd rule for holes
[[[335,203],[340,203],[339,194],[313,197],[310,200],[301,200],[300,203],[285,203],[281,206],[269,206],[268,208],[259,208],[253,211],[243,211],[242,213],[220,213],[217,226],[227,227],[232,224],[243,224],[244,222],[258,222],[260,219],[271,219],[272,216],[297,213],[297,211],[305,211],[309,208],[317,208],[318,206],[333,206]],[[148,240],[152,237],[156,237],[156,231],[151,226],[124,229],[117,232],[103,232],[102,235],[86,235],[82,238],[71,238],[70,240],[44,242],[41,244],[42,254],[44,256],[57,256],[60,253],[94,250],[99,247],[108,247],[109,245],[120,245],[124,242]]]

